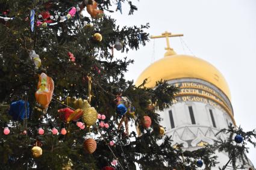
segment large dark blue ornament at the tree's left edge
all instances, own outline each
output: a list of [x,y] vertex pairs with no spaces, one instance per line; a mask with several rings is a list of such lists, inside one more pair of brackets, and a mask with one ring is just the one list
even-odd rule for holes
[[11,103],[9,115],[13,117],[13,120],[24,120],[30,117],[30,104],[24,100],[18,100]]

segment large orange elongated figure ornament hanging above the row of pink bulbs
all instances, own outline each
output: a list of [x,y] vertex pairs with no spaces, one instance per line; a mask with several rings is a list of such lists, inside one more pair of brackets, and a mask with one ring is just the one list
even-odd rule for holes
[[52,78],[48,77],[45,73],[40,74],[36,91],[36,100],[45,109],[45,113],[52,100],[53,92],[54,81]]

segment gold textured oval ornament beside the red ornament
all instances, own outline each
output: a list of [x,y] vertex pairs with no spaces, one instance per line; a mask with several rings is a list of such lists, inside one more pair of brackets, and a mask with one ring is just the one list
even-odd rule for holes
[[84,109],[82,118],[87,126],[92,126],[97,121],[98,113],[93,107],[86,108]]

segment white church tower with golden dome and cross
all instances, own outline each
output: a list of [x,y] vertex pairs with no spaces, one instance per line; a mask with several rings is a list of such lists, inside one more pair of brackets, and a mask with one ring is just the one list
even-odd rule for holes
[[[228,128],[229,123],[236,125],[231,93],[222,73],[209,62],[189,55],[178,55],[169,46],[169,37],[183,34],[164,32],[151,38],[166,38],[167,47],[164,58],[149,65],[139,76],[136,85],[148,79],[146,87],[154,88],[158,80],[167,80],[170,85],[180,88],[173,105],[159,112],[166,127],[166,135],[172,136],[173,147],[183,144],[184,150],[197,150],[214,141],[226,139],[220,129]],[[226,153],[217,153],[222,167],[228,162]],[[251,166],[247,166],[250,168]]]

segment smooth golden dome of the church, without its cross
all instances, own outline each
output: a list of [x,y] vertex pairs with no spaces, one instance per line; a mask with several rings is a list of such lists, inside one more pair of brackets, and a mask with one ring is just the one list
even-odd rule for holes
[[165,55],[153,64],[149,65],[136,81],[139,86],[148,78],[146,87],[155,87],[158,80],[173,80],[181,78],[195,78],[205,80],[219,88],[229,100],[231,94],[228,83],[217,68],[201,58],[189,55]]

